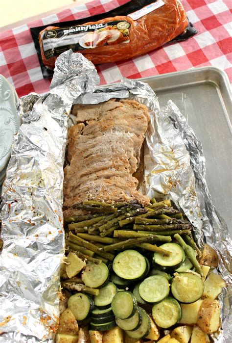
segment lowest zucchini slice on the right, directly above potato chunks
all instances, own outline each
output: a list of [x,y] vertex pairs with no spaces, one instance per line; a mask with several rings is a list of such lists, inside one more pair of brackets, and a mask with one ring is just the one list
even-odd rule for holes
[[171,298],[164,299],[152,308],[153,319],[163,329],[176,324],[180,318],[181,307],[177,301],[173,300]]

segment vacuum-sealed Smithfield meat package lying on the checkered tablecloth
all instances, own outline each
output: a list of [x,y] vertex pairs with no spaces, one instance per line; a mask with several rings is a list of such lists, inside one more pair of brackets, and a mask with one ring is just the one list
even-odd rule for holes
[[31,32],[43,65],[52,71],[59,54],[69,49],[93,64],[115,62],[185,40],[196,30],[180,0],[135,0],[101,15]]

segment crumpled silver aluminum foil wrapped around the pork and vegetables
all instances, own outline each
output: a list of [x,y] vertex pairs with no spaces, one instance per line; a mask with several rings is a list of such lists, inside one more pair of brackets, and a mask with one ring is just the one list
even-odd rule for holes
[[[97,104],[111,98],[135,99],[149,108],[151,120],[146,133],[144,180],[140,190],[158,199],[172,199],[192,223],[199,245],[202,247],[204,242],[209,242],[218,251],[219,272],[227,288],[220,297],[223,330],[212,335],[212,339],[230,342],[231,247],[228,229],[213,207],[205,181],[205,158],[200,142],[175,104],[169,101],[160,109],[155,93],[147,84],[122,79],[96,89],[98,80],[92,63],[81,54],[69,51],[57,59],[51,91],[42,98],[32,94],[21,100],[20,113],[28,124],[23,125],[16,136],[3,194],[3,278],[0,280],[3,297],[0,303],[4,306],[4,316],[0,321],[7,316],[11,318],[1,326],[4,334],[0,342],[52,342],[54,338],[50,328],[57,323],[58,269],[64,248],[63,231],[59,235],[57,231],[62,230],[59,218],[62,218],[66,114],[73,99],[76,104]],[[71,116],[69,118],[72,125]],[[48,122],[53,131],[57,128],[58,135],[43,132]],[[36,135],[34,129],[40,135]],[[37,159],[35,153],[38,153]],[[41,170],[46,170],[46,175],[43,174],[46,183]],[[25,178],[21,178],[23,173],[31,180],[38,197],[30,195]],[[50,182],[54,177],[57,181]],[[42,185],[40,180],[43,180]],[[29,208],[34,203],[36,213]],[[33,228],[27,224],[28,219],[35,223]],[[48,228],[52,237],[46,237]],[[40,238],[35,239],[37,234]]]

